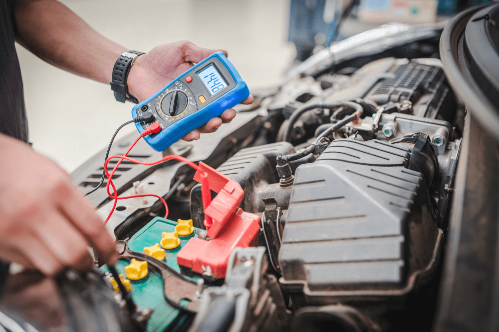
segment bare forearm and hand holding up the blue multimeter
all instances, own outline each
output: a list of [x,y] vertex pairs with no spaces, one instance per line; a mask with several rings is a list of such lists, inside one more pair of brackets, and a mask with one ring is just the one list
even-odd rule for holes
[[[18,43],[58,68],[104,84],[111,82],[116,59],[128,50],[99,34],[56,0],[16,0],[14,17]],[[145,100],[215,51],[185,41],[155,47],[135,60],[127,80],[129,92],[139,101]],[[251,102],[250,96],[243,103]],[[234,116],[236,111],[227,110],[184,139],[215,131]]]

